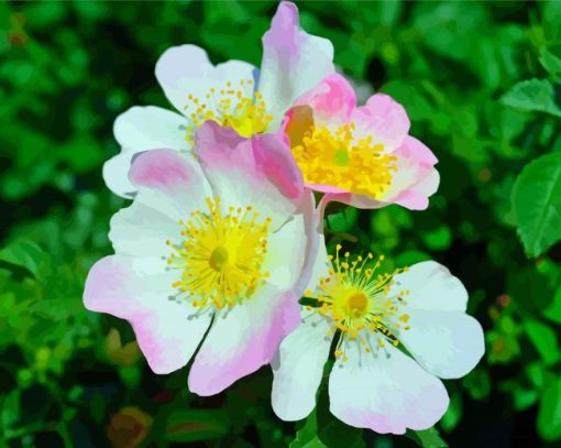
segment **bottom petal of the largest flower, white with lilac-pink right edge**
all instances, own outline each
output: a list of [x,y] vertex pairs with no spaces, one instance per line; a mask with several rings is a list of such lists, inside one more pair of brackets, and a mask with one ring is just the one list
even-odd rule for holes
[[213,395],[273,359],[278,345],[299,323],[298,297],[271,285],[234,306],[215,323],[195,357],[189,390]]

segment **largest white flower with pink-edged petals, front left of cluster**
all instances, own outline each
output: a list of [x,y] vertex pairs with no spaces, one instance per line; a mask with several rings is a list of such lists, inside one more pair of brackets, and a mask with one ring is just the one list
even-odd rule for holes
[[268,363],[298,325],[318,222],[284,144],[209,121],[195,144],[200,164],[173,150],[138,155],[138,194],[111,220],[116,254],[88,275],[86,307],[129,320],[154,372],[197,352],[189,389],[200,395]]

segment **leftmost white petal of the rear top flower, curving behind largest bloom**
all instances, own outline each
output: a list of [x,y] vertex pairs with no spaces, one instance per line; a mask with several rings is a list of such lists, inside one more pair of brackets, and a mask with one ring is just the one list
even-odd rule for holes
[[113,124],[121,153],[103,165],[103,179],[114,194],[131,197],[136,188],[129,181],[134,154],[160,147],[190,151],[185,140],[185,117],[157,107],[133,107],[117,117]]

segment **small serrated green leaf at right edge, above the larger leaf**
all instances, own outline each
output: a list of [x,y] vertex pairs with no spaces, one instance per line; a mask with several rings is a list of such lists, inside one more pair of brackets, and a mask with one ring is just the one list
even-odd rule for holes
[[557,100],[559,86],[547,79],[528,79],[515,85],[501,98],[501,102],[528,112],[544,112],[561,117]]

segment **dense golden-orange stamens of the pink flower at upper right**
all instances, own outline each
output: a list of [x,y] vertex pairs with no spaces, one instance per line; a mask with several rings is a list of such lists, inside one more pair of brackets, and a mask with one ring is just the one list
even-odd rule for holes
[[[288,131],[296,129],[293,124]],[[292,151],[307,184],[331,185],[376,199],[391,185],[397,159],[385,154],[372,136],[354,134],[354,123],[336,130],[311,124],[301,138],[292,139]]]

